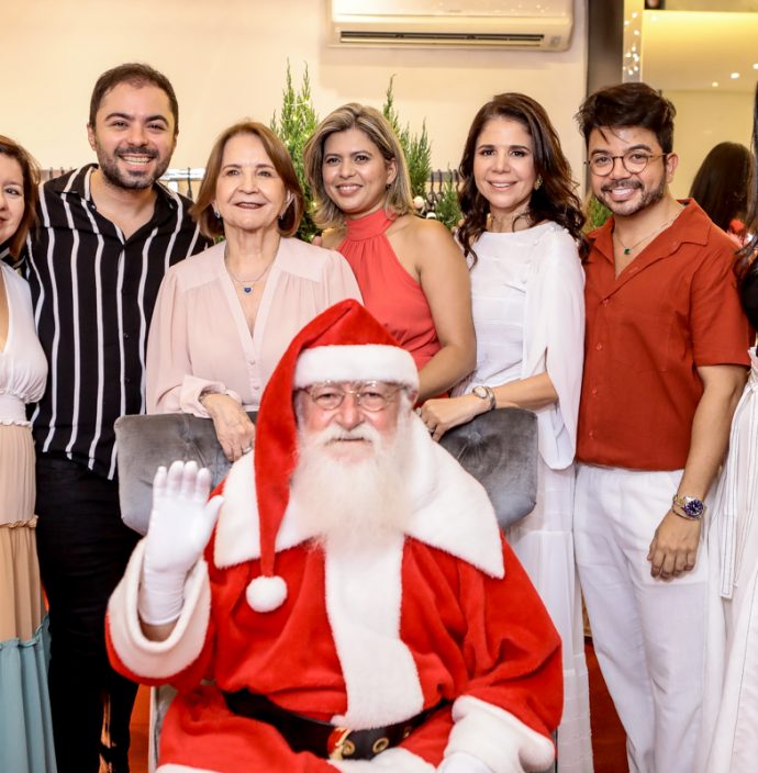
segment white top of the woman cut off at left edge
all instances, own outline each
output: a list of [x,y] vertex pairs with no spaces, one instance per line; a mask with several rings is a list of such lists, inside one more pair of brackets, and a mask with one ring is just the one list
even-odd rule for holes
[[[29,284],[0,261],[8,299],[8,338],[0,349],[0,424],[29,426],[26,403],[45,391],[47,360],[34,328]],[[0,288],[1,291],[1,288]]]

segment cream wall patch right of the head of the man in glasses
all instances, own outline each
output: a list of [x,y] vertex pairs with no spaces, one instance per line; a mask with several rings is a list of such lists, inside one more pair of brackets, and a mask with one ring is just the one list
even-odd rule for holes
[[688,195],[698,168],[718,143],[742,143],[750,147],[753,94],[714,91],[665,91],[673,102],[677,119],[673,149],[679,167],[671,184],[673,194]]

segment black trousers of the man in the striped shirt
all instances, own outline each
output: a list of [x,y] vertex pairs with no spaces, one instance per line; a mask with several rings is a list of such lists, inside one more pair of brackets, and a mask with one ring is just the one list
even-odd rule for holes
[[58,773],[98,773],[101,751],[112,770],[122,773],[129,771],[129,724],[137,685],[111,668],[104,619],[138,535],[121,520],[118,482],[46,453],[37,457],[36,477]]

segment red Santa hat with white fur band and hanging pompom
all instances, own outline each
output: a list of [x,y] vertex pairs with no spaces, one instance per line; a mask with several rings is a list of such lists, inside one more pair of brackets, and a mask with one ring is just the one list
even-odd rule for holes
[[292,339],[264,391],[256,423],[261,574],[246,592],[247,603],[256,612],[276,609],[287,597],[287,585],[274,573],[274,562],[277,531],[298,459],[292,392],[322,381],[390,381],[419,389],[411,355],[357,301],[331,306]]

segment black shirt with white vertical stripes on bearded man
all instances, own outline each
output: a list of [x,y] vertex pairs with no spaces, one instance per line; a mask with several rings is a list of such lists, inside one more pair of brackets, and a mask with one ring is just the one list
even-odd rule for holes
[[124,238],[98,213],[89,165],[40,190],[40,223],[27,240],[25,275],[49,363],[33,416],[37,453],[64,453],[115,475],[113,423],[145,411],[145,347],[166,269],[208,242],[190,202],[160,184],[153,219]]

